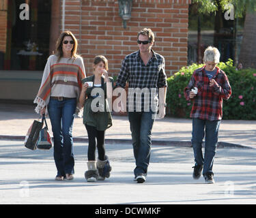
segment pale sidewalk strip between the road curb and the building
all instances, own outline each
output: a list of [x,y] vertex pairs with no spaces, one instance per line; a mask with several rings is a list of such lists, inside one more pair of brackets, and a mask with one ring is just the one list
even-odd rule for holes
[[[0,139],[23,139],[27,129],[38,114],[34,106],[0,103]],[[51,122],[47,119],[49,129]],[[156,144],[190,146],[191,119],[165,117],[156,120],[152,129],[152,140]],[[76,142],[87,139],[83,119],[74,120],[73,136]],[[113,116],[113,126],[106,130],[106,142],[130,142],[130,125],[127,116]],[[224,146],[250,146],[256,148],[256,121],[221,122],[219,144]]]

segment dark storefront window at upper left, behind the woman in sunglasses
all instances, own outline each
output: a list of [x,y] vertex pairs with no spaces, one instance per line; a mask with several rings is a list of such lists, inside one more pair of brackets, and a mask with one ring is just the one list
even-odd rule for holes
[[[24,18],[20,5],[26,3]],[[8,1],[8,31],[4,69],[43,70],[49,55],[50,0]]]

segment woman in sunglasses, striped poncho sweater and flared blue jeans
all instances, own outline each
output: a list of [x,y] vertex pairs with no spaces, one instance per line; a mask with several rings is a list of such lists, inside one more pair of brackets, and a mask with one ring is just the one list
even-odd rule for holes
[[38,104],[35,111],[43,114],[47,108],[51,120],[57,181],[74,178],[72,125],[85,78],[83,59],[76,54],[77,46],[76,37],[70,31],[59,35],[56,55],[48,58],[34,100]]

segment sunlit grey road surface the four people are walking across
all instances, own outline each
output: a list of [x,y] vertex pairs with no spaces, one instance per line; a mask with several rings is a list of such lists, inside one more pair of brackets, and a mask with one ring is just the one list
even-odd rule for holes
[[147,181],[132,181],[130,144],[106,144],[113,172],[87,183],[87,143],[75,143],[74,181],[54,181],[53,149],[30,151],[23,142],[0,140],[0,204],[255,204],[256,149],[220,148],[215,184],[193,180],[193,150],[152,146]]

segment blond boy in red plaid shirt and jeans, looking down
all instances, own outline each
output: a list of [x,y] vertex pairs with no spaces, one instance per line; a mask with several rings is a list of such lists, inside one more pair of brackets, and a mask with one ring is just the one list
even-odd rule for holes
[[[184,89],[187,100],[193,101],[190,117],[193,118],[192,145],[195,156],[193,178],[203,170],[205,183],[214,183],[212,166],[218,144],[218,129],[223,116],[223,99],[229,99],[231,87],[225,72],[216,67],[220,60],[217,48],[209,46],[203,57],[205,65],[196,69]],[[205,136],[205,154],[202,142]]]

